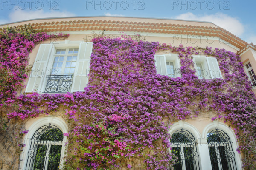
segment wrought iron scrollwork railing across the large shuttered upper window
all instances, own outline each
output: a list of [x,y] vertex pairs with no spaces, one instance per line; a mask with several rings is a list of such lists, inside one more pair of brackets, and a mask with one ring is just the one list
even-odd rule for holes
[[44,93],[66,93],[70,91],[73,74],[46,76],[47,84]]

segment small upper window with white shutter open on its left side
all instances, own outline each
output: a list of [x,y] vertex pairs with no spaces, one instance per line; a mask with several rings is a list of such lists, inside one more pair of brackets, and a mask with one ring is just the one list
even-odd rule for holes
[[180,61],[177,54],[155,55],[157,74],[180,77]]

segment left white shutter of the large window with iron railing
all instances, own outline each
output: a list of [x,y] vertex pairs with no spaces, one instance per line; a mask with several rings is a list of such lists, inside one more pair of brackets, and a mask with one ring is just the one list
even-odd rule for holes
[[35,89],[41,93],[42,83],[44,82],[47,63],[52,51],[52,44],[41,44],[37,56],[35,58],[34,65],[32,67],[29,81],[26,86],[25,93],[32,93]]

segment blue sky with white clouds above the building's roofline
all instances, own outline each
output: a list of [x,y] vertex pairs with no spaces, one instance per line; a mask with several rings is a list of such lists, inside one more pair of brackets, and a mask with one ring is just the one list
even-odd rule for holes
[[256,44],[255,8],[256,0],[1,0],[0,24],[71,16],[201,20]]

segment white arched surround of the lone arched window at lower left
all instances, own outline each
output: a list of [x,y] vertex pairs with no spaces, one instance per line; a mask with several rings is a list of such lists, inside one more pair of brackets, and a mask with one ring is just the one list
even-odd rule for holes
[[[68,127],[63,119],[50,115],[48,117],[38,117],[36,121],[33,121],[32,125],[28,127],[29,132],[24,136],[23,143],[26,144],[26,146],[23,148],[23,152],[20,154],[20,170],[26,170],[26,163],[28,160],[28,152],[31,145],[31,138],[34,135],[35,131],[38,130],[38,128],[40,128],[41,126],[49,125],[49,123],[51,123],[51,125],[57,126],[63,133],[68,132]],[[63,168],[63,163],[65,161],[64,156],[65,152],[67,152],[66,142],[67,137],[63,135],[60,169]],[[45,161],[47,161],[47,159]]]

